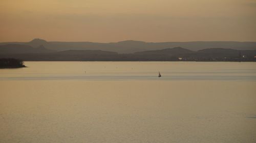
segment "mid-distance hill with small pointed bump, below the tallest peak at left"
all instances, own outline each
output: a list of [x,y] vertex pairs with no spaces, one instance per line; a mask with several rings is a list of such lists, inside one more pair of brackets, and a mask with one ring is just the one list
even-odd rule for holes
[[46,49],[43,45],[37,48],[33,48],[29,45],[20,44],[7,44],[0,45],[0,54],[10,54],[10,53],[50,53],[54,50]]

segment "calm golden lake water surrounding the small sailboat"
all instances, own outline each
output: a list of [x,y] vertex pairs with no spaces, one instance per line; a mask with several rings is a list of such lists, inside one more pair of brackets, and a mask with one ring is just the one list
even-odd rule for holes
[[0,69],[1,143],[256,142],[256,63],[25,65]]

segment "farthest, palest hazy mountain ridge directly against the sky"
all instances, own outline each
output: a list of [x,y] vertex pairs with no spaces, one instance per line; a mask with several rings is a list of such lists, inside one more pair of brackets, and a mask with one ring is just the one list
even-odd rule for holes
[[[192,51],[208,48],[228,48],[236,50],[256,50],[256,42],[142,42],[142,41],[121,41],[116,43],[95,43],[95,42],[48,42],[42,39],[34,39],[30,42],[4,42],[0,45],[28,45],[38,48],[40,45],[54,51],[64,50],[104,50],[117,53],[135,53],[147,50],[161,50],[173,47],[183,47]],[[18,49],[17,49],[18,50]],[[48,51],[49,51],[48,50]],[[38,50],[39,51],[39,50]],[[0,51],[1,52],[1,51]],[[43,51],[42,51],[43,52]]]

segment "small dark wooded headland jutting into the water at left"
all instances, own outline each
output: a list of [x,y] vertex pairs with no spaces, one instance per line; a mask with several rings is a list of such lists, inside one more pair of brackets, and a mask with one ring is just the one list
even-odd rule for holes
[[0,59],[0,69],[5,68],[23,68],[26,67],[22,60],[13,58],[2,58]]

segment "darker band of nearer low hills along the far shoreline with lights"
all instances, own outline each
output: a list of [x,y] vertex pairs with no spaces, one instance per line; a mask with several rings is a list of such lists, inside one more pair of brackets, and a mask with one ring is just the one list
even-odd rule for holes
[[[9,47],[9,45],[5,45]],[[230,61],[256,62],[256,50],[210,48],[193,51],[181,47],[149,50],[135,53],[117,53],[103,50],[53,51],[44,47],[19,47],[8,50],[0,46],[0,58],[16,58],[24,61]],[[20,46],[20,45],[19,45]],[[15,49],[10,46],[11,49]],[[3,49],[1,49],[3,48]],[[39,50],[43,52],[39,52]],[[25,52],[26,51],[26,52]]]

